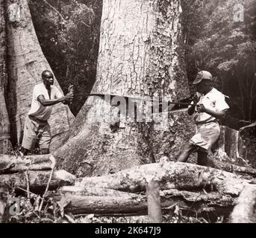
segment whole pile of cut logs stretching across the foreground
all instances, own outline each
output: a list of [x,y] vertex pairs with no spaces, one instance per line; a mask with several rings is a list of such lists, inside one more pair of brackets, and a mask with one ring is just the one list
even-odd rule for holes
[[154,210],[158,218],[153,221],[159,222],[161,213],[230,216],[230,222],[255,222],[256,185],[249,176],[244,179],[196,164],[164,162],[75,179],[66,171],[55,171],[54,166],[51,155],[23,161],[1,155],[0,222],[7,206],[7,187],[43,194],[73,215],[137,216]]

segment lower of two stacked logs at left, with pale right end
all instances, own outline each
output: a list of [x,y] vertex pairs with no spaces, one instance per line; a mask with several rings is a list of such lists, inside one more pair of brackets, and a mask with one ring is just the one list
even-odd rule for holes
[[[26,173],[28,176],[26,176]],[[25,171],[21,173],[4,174],[0,175],[0,184],[5,184],[10,188],[21,187],[22,189],[26,189],[29,184],[31,191],[43,192],[48,184],[50,174],[51,171]],[[49,189],[54,190],[63,185],[71,185],[74,181],[75,176],[72,174],[65,170],[57,170],[54,171]]]

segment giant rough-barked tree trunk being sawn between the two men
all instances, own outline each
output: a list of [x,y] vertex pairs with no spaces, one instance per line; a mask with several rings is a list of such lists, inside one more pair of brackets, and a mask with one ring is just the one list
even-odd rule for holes
[[[179,0],[105,0],[93,92],[187,97],[180,14]],[[192,130],[184,112],[169,115],[169,127],[157,132],[156,123],[126,117],[127,103],[111,103],[90,97],[84,104],[69,140],[54,153],[63,169],[93,176],[173,158]]]

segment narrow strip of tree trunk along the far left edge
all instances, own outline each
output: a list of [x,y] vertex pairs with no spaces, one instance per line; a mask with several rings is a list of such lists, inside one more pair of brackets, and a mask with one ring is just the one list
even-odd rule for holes
[[6,107],[7,96],[7,42],[4,18],[4,0],[0,1],[0,154],[7,153],[10,144],[10,121]]

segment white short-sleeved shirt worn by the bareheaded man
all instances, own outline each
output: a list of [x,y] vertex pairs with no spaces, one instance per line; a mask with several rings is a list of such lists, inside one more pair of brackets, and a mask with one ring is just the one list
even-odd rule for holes
[[[48,120],[51,117],[52,106],[43,106],[37,100],[37,97],[40,95],[43,95],[46,100],[50,99],[46,86],[43,83],[34,86],[31,109],[29,110],[28,115],[40,120]],[[61,94],[56,86],[51,86],[51,100],[60,97],[63,97],[63,94]]]

